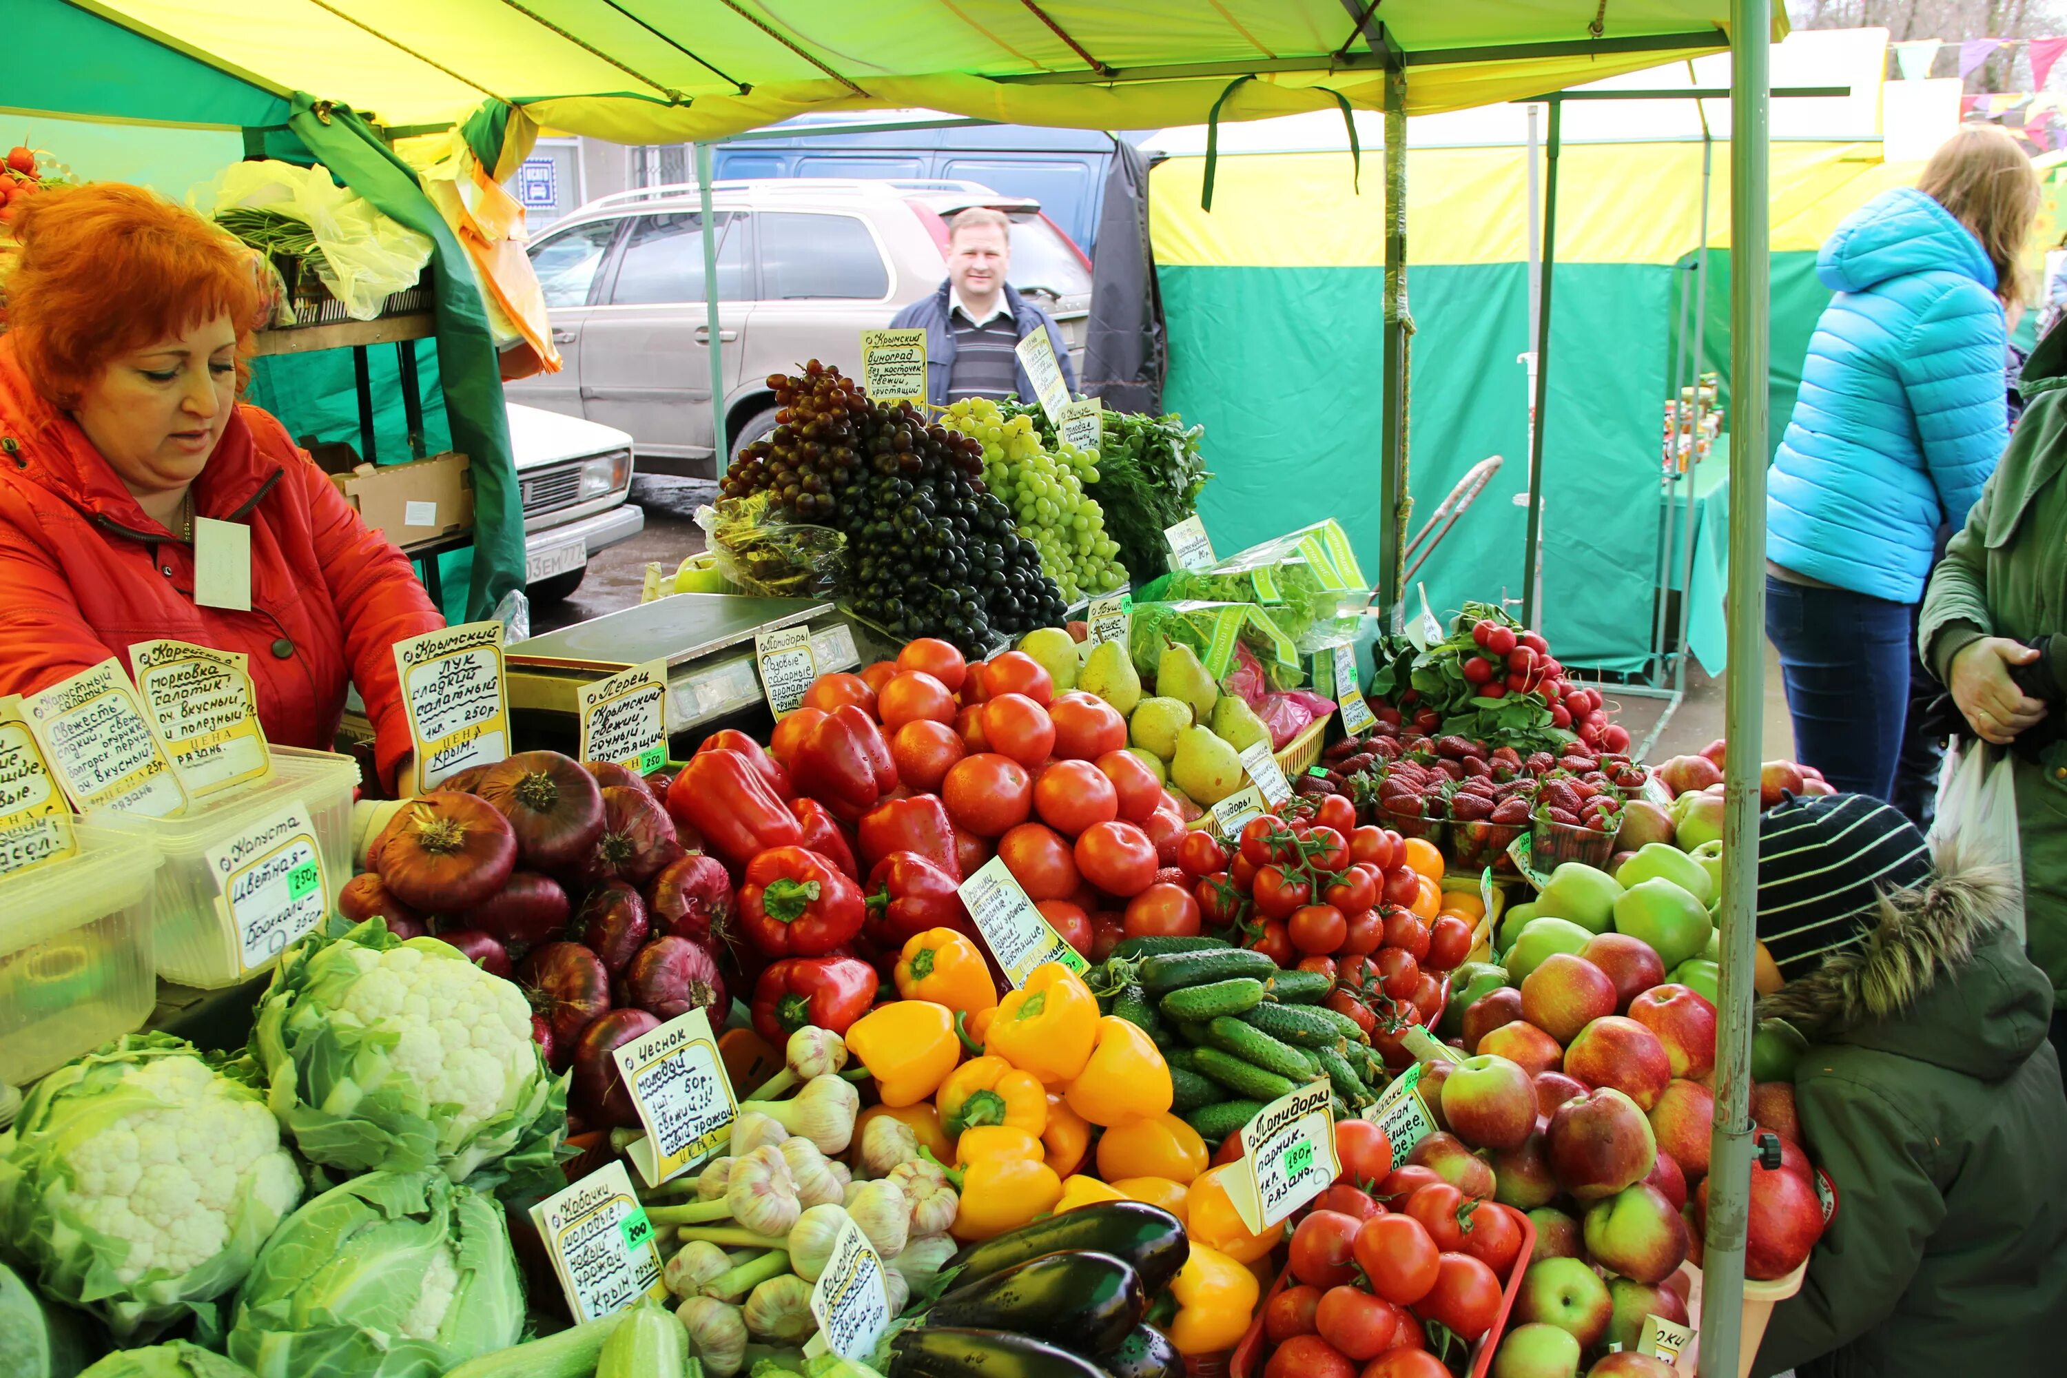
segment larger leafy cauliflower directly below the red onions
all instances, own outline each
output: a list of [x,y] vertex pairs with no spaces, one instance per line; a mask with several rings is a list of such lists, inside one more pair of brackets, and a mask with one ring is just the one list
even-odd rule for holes
[[378,919],[289,948],[252,1056],[296,1147],[341,1171],[444,1171],[477,1186],[558,1180],[566,1078],[531,1041],[531,1006],[436,938]]

